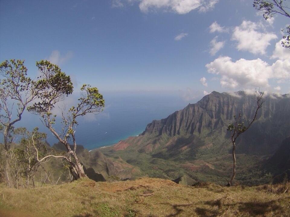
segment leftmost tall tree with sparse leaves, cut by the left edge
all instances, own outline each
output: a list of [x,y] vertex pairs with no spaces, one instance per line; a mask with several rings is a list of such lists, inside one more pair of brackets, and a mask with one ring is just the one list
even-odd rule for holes
[[[37,98],[39,88],[36,81],[27,77],[24,61],[11,59],[0,64],[0,123],[4,135],[4,173],[9,187],[13,185],[10,177],[9,150],[13,141],[14,124],[21,120],[27,105]],[[14,107],[14,105],[17,105]],[[16,112],[16,115],[13,113]]]

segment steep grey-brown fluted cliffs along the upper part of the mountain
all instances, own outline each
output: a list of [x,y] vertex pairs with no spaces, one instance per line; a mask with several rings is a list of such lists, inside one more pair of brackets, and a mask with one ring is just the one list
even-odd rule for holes
[[[248,118],[253,117],[256,110],[255,96],[246,95],[243,91],[236,95],[228,93],[212,92],[204,96],[195,104],[189,104],[184,109],[176,111],[160,121],[152,121],[148,124],[142,135],[175,136],[180,134],[201,134],[203,131],[225,129],[239,112]],[[283,101],[289,98],[265,97],[265,103],[259,112],[258,118],[272,117],[276,112],[289,111],[289,105],[285,107]]]

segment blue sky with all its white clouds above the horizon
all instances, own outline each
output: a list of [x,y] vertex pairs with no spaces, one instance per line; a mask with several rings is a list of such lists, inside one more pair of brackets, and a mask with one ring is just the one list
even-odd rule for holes
[[[252,0],[0,2],[0,61],[49,59],[101,91],[290,91],[286,17],[270,22]],[[263,41],[260,40],[263,37]],[[277,44],[276,44],[277,43]]]

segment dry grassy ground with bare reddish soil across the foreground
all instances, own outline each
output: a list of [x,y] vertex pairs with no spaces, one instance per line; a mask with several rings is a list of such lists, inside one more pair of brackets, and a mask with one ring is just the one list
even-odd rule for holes
[[[289,187],[189,187],[157,178],[111,183],[81,179],[18,190],[0,187],[0,216],[290,216]],[[143,196],[146,190],[153,196]]]

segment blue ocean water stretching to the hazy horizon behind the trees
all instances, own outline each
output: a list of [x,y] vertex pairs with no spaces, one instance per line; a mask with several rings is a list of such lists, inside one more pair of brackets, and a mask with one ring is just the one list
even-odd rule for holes
[[[188,102],[179,93],[158,92],[118,92],[103,93],[105,109],[98,115],[87,115],[78,119],[76,141],[86,149],[109,146],[129,136],[137,136],[145,130],[153,120],[166,118],[176,110],[184,108]],[[69,102],[65,102],[69,104]],[[76,102],[71,102],[72,104]],[[50,145],[58,140],[40,121],[39,116],[26,112],[18,126],[31,130],[39,127],[47,133]],[[60,120],[56,120],[55,128],[61,131]]]

